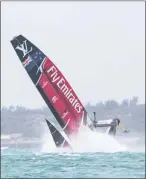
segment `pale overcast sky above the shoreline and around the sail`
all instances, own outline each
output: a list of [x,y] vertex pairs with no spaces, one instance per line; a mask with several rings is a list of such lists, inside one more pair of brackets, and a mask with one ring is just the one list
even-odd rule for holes
[[1,105],[46,106],[10,40],[24,35],[87,104],[145,103],[145,2],[2,2]]

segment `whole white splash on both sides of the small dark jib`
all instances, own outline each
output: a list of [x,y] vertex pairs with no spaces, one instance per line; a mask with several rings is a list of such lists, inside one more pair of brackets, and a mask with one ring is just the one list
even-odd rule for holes
[[73,149],[56,148],[51,134],[47,131],[42,137],[41,152],[122,152],[127,148],[121,145],[115,138],[102,133],[82,128],[76,138],[72,140]]

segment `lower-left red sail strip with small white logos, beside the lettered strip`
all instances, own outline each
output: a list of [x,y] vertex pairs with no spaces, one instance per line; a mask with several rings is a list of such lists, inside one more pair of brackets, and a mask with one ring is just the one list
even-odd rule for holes
[[39,79],[39,85],[50,100],[51,105],[58,112],[60,118],[63,119],[65,124],[65,130],[69,131],[70,134],[77,133],[78,128],[76,125],[76,120],[73,118],[72,114],[66,109],[65,103],[63,102],[63,100],[61,100],[60,96],[43,73]]

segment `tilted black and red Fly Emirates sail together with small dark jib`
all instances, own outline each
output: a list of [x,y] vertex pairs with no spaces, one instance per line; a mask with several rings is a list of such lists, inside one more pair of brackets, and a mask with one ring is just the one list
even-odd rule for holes
[[[20,62],[38,89],[62,132],[45,119],[57,147],[72,147],[80,126],[87,126],[87,112],[74,90],[56,65],[34,44],[22,35],[11,40]],[[98,126],[97,126],[98,127]]]

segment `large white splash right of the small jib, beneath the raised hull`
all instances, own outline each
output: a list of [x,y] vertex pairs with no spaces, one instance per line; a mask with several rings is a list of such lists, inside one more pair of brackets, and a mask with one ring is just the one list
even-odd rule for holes
[[120,152],[126,147],[118,143],[115,138],[105,134],[82,128],[77,140],[73,141],[74,152]]

